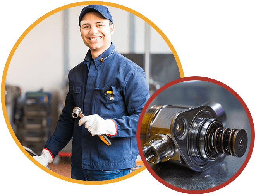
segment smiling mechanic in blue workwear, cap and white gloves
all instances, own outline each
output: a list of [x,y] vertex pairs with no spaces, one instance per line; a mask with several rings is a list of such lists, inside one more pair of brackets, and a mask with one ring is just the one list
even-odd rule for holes
[[[136,128],[149,87],[143,69],[115,51],[115,25],[107,7],[84,7],[79,25],[89,51],[69,72],[65,107],[41,156],[34,158],[47,166],[73,137],[71,178],[110,180],[136,166]],[[85,116],[72,118],[74,107]],[[111,137],[111,146],[95,136],[103,134]]]

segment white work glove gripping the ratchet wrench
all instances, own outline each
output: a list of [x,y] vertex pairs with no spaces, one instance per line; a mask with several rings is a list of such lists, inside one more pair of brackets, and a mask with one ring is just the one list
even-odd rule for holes
[[117,126],[111,119],[104,120],[98,114],[88,115],[81,118],[78,125],[84,127],[94,135],[110,135],[115,136],[117,134]]

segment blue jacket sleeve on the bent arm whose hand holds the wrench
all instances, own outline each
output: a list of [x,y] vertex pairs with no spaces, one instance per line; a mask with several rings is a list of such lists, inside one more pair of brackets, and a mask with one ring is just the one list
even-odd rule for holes
[[141,68],[134,69],[127,77],[122,89],[124,101],[127,106],[128,116],[113,118],[117,125],[117,134],[114,137],[136,136],[137,123],[141,111],[149,99],[149,87],[146,75]]

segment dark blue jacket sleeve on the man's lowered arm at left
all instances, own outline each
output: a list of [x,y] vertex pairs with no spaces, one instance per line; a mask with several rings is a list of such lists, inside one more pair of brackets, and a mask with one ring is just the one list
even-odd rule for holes
[[65,106],[60,114],[57,126],[54,133],[46,141],[45,148],[51,151],[53,158],[62,150],[72,138],[74,129],[74,118],[72,117],[72,110],[74,106],[74,98],[69,92],[65,100]]

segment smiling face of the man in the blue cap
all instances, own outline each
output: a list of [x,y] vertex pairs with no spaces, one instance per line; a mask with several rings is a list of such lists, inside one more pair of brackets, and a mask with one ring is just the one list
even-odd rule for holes
[[102,54],[111,45],[111,35],[115,25],[109,26],[109,20],[98,12],[89,12],[82,17],[80,32],[84,44],[93,52]]

